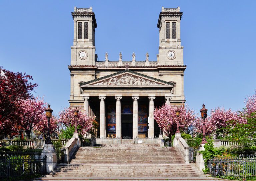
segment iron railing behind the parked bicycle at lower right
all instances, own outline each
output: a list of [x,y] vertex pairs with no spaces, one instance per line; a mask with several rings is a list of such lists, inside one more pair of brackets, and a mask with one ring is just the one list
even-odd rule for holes
[[256,179],[255,158],[211,159],[207,162],[210,174],[216,168],[224,168],[227,176],[237,179]]

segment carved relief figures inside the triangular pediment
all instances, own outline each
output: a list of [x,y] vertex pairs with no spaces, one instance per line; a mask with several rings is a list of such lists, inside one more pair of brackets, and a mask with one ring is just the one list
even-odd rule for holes
[[157,85],[163,85],[159,84],[155,81],[148,80],[145,77],[130,75],[130,74],[123,74],[116,77],[111,77],[109,79],[105,79],[101,82],[92,84],[92,85],[114,85],[114,86],[124,86],[124,85],[130,85],[130,86],[157,86]]

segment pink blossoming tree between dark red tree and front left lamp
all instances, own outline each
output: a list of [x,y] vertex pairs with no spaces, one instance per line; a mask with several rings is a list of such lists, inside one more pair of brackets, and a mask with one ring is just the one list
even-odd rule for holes
[[35,125],[45,119],[46,103],[43,99],[22,99],[17,114],[19,115],[19,125],[26,132],[27,139]]

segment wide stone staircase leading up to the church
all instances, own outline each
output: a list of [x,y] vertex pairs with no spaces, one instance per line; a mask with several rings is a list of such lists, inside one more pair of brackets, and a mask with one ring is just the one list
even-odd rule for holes
[[[206,178],[194,164],[185,164],[175,147],[157,144],[80,147],[70,164],[58,165],[47,180],[71,179],[152,179]],[[127,178],[128,177],[128,178]],[[201,179],[200,179],[201,178]],[[187,180],[187,179],[185,179]]]

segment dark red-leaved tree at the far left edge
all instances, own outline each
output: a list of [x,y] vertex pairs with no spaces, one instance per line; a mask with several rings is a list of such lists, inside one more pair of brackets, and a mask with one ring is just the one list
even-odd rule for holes
[[19,100],[33,98],[31,92],[37,84],[26,73],[14,73],[0,67],[0,139],[15,133],[12,129],[16,125],[19,115],[15,114],[19,108]]

